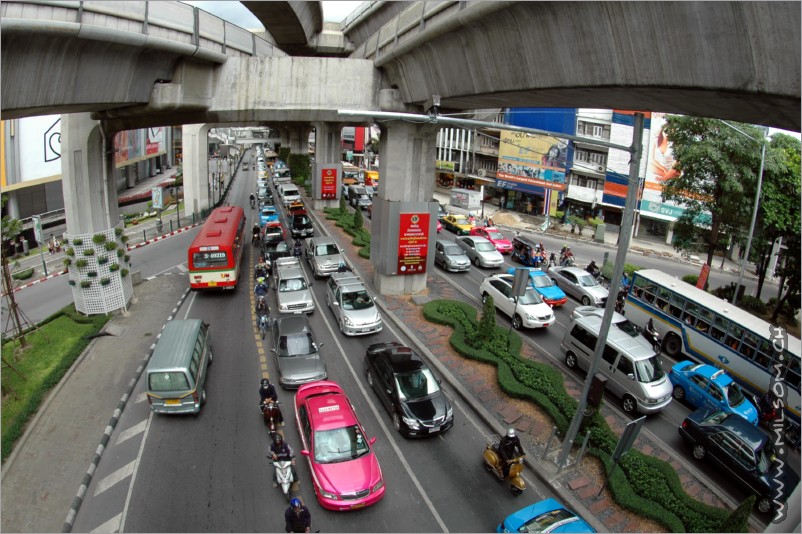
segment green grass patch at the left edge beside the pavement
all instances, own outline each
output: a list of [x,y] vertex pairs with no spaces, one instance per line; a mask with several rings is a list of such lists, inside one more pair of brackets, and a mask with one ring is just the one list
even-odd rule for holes
[[3,365],[0,414],[3,462],[48,392],[89,344],[89,336],[99,332],[108,319],[106,315],[82,316],[71,304],[46,319],[39,329],[26,333],[28,346],[24,351],[18,348],[19,343],[3,343],[3,359],[22,375]]

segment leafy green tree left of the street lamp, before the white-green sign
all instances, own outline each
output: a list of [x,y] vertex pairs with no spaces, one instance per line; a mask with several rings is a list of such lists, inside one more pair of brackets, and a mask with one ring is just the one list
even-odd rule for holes
[[[755,139],[763,137],[756,126],[736,127]],[[663,200],[685,206],[674,228],[676,244],[692,250],[701,243],[712,266],[723,230],[749,224],[752,199],[746,193],[754,191],[760,151],[754,141],[718,119],[669,116],[666,136],[680,174],[663,184]]]

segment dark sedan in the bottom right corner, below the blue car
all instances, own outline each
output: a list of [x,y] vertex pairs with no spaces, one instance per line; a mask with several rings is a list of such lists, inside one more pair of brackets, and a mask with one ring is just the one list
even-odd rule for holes
[[790,464],[776,456],[769,436],[740,415],[702,407],[685,418],[679,434],[694,458],[709,458],[705,463],[754,493],[761,513],[785,503],[799,483]]

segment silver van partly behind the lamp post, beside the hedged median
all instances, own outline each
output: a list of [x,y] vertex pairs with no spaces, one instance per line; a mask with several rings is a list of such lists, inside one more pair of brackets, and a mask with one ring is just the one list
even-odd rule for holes
[[[560,344],[568,367],[585,371],[590,367],[601,322],[597,315],[571,321]],[[611,326],[599,372],[607,378],[607,388],[621,398],[625,412],[650,414],[671,402],[672,386],[660,357],[640,337]]]

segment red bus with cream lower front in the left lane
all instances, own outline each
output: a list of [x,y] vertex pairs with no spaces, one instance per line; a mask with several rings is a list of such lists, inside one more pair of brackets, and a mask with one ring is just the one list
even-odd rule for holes
[[189,287],[236,289],[245,236],[245,211],[239,206],[215,209],[189,246]]

